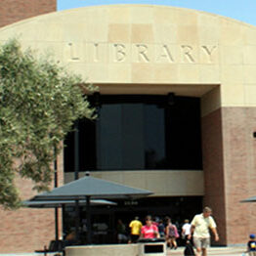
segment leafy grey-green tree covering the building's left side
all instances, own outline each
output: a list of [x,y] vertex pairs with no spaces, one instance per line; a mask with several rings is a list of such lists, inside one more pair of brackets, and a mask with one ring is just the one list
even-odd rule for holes
[[0,46],[0,204],[21,205],[15,177],[31,179],[38,192],[47,190],[52,163],[73,122],[94,118],[80,76],[68,74],[51,59],[39,60],[10,40]]

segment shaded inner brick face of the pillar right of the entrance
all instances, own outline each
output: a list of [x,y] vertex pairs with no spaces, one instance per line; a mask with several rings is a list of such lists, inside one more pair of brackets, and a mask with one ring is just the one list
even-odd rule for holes
[[219,244],[227,244],[221,109],[202,117],[201,127],[205,193],[203,204],[213,209],[220,235]]

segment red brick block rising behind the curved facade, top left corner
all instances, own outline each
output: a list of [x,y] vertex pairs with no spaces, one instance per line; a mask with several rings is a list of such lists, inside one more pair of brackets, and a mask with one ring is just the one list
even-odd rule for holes
[[1,0],[0,27],[27,18],[55,12],[57,0]]

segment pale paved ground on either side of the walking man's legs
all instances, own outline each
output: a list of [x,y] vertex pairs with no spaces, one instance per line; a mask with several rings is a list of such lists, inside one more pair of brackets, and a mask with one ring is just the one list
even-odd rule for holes
[[[207,250],[207,256],[208,255],[232,255],[232,256],[241,256],[241,254],[244,252],[245,248],[238,246],[238,247],[211,247]],[[168,256],[183,256],[184,253],[184,247],[180,247],[177,250],[170,250],[168,249],[167,255]],[[247,255],[247,254],[246,254]]]

